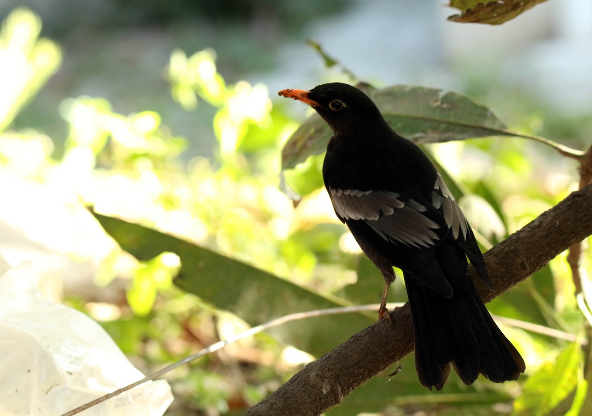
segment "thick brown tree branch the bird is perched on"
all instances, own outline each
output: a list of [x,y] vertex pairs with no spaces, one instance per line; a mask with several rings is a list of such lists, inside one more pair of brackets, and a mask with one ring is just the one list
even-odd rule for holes
[[[588,235],[592,235],[592,184],[485,253],[494,288],[474,279],[475,286],[487,302]],[[339,404],[353,389],[413,351],[408,305],[392,311],[391,321],[392,328],[387,321],[378,321],[308,364],[246,415],[316,416]]]

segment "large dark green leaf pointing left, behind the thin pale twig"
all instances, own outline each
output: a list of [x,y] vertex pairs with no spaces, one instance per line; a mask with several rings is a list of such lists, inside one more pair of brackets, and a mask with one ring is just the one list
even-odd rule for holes
[[[122,249],[138,260],[174,252],[181,270],[174,283],[251,325],[288,313],[348,306],[345,300],[320,295],[251,265],[217,254],[174,236],[114,217],[93,213]],[[380,284],[378,281],[377,284]],[[321,316],[289,322],[269,330],[287,344],[320,356],[376,320],[374,313]]]

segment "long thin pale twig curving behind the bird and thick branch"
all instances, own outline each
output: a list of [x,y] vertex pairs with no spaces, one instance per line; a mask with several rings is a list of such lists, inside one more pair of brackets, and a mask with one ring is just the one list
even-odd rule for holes
[[[404,305],[404,303],[388,303],[387,304],[389,309],[400,308],[400,306],[403,306],[403,305]],[[242,340],[243,338],[258,334],[259,332],[266,331],[266,329],[274,328],[279,325],[285,324],[287,322],[298,321],[300,319],[314,318],[316,316],[337,315],[340,313],[356,313],[356,312],[363,312],[363,311],[377,311],[379,306],[380,305],[378,303],[375,303],[375,304],[371,304],[371,305],[345,306],[342,308],[318,309],[316,311],[290,313],[289,315],[285,315],[285,316],[281,316],[280,318],[272,319],[272,321],[269,321],[269,322],[266,322],[265,324],[257,325],[256,327],[247,329],[247,331],[244,331],[244,332],[241,332],[240,334],[234,335],[233,337],[230,337],[227,340],[218,341],[217,343],[214,343],[214,344],[210,345],[209,347],[206,347],[206,348],[198,351],[195,354],[191,354],[191,356],[185,357],[184,359],[177,361],[174,364],[170,364],[170,366],[160,369],[157,372],[152,373],[151,375],[146,376],[143,379],[138,380],[135,383],[131,383],[128,386],[125,386],[121,389],[118,389],[114,392],[108,393],[107,395],[96,398],[86,404],[83,404],[82,406],[72,409],[69,412],[62,414],[62,416],[73,416],[75,414],[78,414],[78,413],[82,412],[83,410],[86,410],[86,409],[91,408],[95,405],[98,405],[101,402],[104,402],[112,397],[120,395],[121,393],[124,393],[130,389],[133,389],[134,387],[137,387],[147,381],[157,379],[157,378],[165,375],[166,373],[170,372],[171,370],[176,369],[177,367],[180,367],[184,364],[188,364],[191,361],[197,360],[198,358],[201,358],[201,357],[205,356],[206,354],[214,353],[215,351],[218,351],[221,348],[226,347],[226,345],[228,345],[228,344],[231,344],[236,341]],[[519,321],[518,319],[505,318],[503,316],[493,316],[493,318],[497,322],[500,322],[502,324],[510,325],[510,326],[516,327],[516,328],[526,329],[527,331],[536,332],[538,334],[548,335],[549,337],[559,338],[559,339],[568,340],[568,341],[575,341],[577,338],[574,334],[570,334],[568,332],[559,331],[558,329],[543,327],[542,325],[531,324],[530,322]]]

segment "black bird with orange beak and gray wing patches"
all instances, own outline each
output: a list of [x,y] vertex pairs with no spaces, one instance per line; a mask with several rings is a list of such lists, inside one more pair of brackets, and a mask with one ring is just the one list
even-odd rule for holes
[[346,223],[386,282],[403,270],[415,334],[420,382],[442,389],[451,363],[470,385],[479,373],[493,382],[518,379],[522,357],[477,295],[468,260],[491,285],[471,227],[422,150],[395,133],[377,106],[347,84],[310,91],[284,89],[329,124],[333,136],[323,164],[324,183],[337,217]]

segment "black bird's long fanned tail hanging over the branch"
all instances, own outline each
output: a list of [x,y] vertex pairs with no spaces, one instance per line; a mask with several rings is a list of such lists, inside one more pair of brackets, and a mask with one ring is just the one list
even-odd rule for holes
[[430,389],[442,389],[451,364],[467,385],[480,373],[496,383],[516,380],[525,363],[477,295],[464,252],[453,242],[444,242],[436,249],[436,261],[452,285],[450,299],[404,273],[420,382]]

